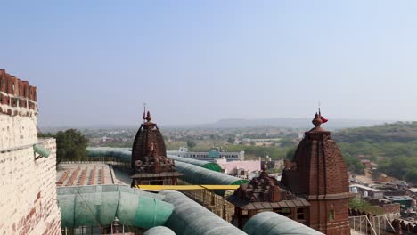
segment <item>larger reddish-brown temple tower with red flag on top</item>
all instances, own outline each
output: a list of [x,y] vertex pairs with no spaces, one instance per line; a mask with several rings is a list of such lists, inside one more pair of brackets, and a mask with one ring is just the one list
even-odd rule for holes
[[315,127],[299,142],[290,167],[282,174],[282,183],[310,202],[307,221],[311,228],[330,235],[350,234],[347,166],[322,123],[321,114],[316,113]]

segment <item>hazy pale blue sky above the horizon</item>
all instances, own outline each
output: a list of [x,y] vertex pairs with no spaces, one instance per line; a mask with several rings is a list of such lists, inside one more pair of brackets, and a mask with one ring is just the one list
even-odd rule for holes
[[1,1],[39,124],[417,120],[416,1]]

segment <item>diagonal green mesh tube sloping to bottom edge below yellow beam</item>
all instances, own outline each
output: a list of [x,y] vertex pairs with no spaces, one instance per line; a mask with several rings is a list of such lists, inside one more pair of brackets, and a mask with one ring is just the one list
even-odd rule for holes
[[166,226],[181,235],[244,235],[245,232],[225,222],[183,193],[165,190],[159,192],[165,196],[164,201],[174,205]]

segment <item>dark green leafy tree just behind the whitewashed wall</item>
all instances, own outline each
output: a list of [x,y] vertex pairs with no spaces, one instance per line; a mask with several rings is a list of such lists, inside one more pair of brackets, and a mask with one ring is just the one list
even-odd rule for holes
[[76,129],[60,131],[56,134],[56,162],[61,160],[84,161],[87,159],[88,139]]

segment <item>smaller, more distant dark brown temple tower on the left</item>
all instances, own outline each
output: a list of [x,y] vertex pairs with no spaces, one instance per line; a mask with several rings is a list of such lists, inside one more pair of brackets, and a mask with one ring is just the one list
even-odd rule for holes
[[132,186],[140,184],[176,185],[173,159],[167,158],[165,142],[158,126],[151,122],[151,114],[143,115],[143,124],[137,131],[132,148]]

